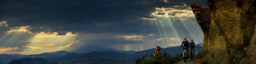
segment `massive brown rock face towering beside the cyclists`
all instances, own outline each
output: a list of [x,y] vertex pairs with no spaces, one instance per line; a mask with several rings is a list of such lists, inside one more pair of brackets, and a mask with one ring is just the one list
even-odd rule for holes
[[204,32],[208,64],[256,64],[256,0],[208,0],[192,4]]

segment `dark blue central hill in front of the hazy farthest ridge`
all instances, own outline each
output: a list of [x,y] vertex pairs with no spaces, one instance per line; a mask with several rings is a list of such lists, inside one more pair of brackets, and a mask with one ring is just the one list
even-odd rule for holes
[[69,53],[65,56],[46,58],[48,61],[58,62],[59,64],[134,64],[137,55],[118,53],[115,51],[92,51],[89,53]]

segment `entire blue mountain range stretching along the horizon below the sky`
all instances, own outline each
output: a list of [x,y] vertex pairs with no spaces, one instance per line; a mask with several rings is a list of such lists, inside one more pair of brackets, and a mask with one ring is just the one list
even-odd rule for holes
[[[201,44],[201,43],[200,43]],[[202,51],[203,47],[199,46],[198,52]],[[93,51],[94,50],[94,51]],[[0,64],[9,63],[14,59],[24,59],[24,58],[43,58],[47,61],[57,62],[59,64],[134,64],[134,60],[145,54],[153,54],[155,48],[148,49],[145,51],[119,51],[113,48],[107,47],[85,47],[73,50],[76,53],[70,53],[68,51],[55,51],[47,53],[39,53],[35,55],[25,55],[22,54],[0,54]],[[162,48],[160,53],[167,51],[172,56],[175,54],[182,53],[182,48],[179,46]],[[195,49],[196,51],[196,49]],[[88,53],[86,53],[88,52]],[[81,54],[78,54],[81,53]],[[30,59],[29,58],[29,59]],[[1,62],[2,61],[2,62]]]

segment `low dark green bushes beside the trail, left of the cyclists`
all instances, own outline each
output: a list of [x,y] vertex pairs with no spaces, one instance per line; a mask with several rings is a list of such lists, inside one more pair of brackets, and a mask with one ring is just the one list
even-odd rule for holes
[[135,64],[175,64],[175,62],[183,60],[182,53],[172,57],[166,51],[164,53],[159,53],[158,56],[155,57],[151,55],[151,59],[146,59],[147,56],[148,54],[138,57],[135,59]]

